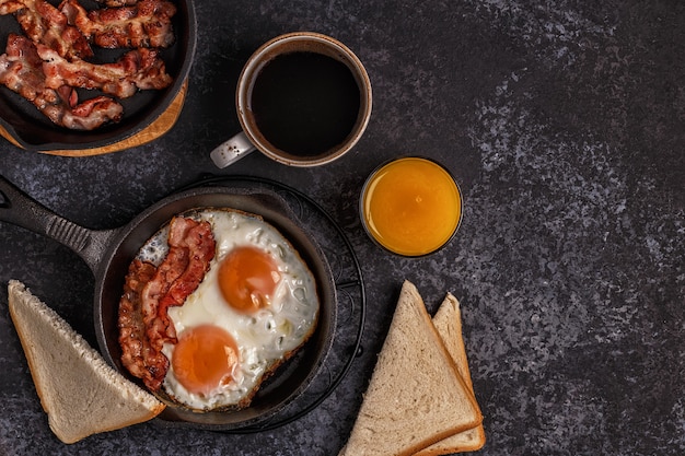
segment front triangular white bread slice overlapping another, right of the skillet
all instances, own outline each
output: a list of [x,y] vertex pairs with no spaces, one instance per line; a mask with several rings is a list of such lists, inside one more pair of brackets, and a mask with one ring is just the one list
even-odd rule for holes
[[371,375],[346,456],[413,455],[473,429],[483,417],[433,326],[405,281]]

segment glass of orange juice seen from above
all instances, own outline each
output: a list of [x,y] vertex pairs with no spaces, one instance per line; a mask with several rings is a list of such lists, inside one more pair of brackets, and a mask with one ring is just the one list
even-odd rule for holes
[[373,173],[361,197],[362,220],[383,247],[421,256],[442,247],[462,219],[462,197],[450,173],[420,157],[393,161]]

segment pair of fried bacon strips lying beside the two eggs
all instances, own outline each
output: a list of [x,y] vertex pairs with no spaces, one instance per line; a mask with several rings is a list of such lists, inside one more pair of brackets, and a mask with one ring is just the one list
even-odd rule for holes
[[182,305],[197,289],[214,257],[214,248],[208,222],[174,218],[164,260],[156,268],[135,260],[129,268],[119,304],[121,362],[153,391],[160,388],[169,369],[162,348],[165,342],[176,343],[167,309]]

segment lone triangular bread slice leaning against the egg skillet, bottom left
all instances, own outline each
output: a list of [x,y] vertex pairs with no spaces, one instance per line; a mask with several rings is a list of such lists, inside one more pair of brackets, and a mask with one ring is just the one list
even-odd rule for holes
[[48,424],[63,443],[156,417],[164,405],[126,379],[16,280],[9,307]]

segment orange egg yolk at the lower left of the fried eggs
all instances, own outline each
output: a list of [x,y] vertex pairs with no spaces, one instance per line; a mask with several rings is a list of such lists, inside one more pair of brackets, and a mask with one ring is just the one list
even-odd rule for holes
[[185,331],[172,354],[178,383],[189,393],[208,395],[231,379],[237,363],[237,344],[229,332],[202,325]]

